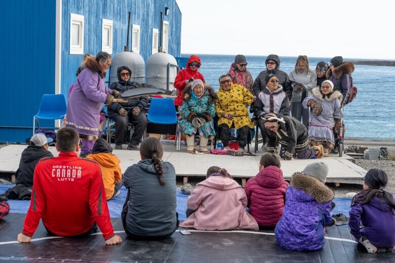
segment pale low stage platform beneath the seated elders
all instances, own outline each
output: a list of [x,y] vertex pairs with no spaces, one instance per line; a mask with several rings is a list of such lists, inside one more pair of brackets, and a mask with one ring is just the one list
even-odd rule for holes
[[[0,149],[0,172],[15,172],[18,169],[22,151],[26,145],[9,145]],[[112,145],[115,148],[115,145]],[[127,145],[124,145],[124,149]],[[186,147],[181,146],[181,151],[176,151],[173,144],[163,144],[163,160],[172,163],[176,169],[177,176],[184,177],[184,182],[191,177],[206,177],[206,171],[210,166],[216,165],[226,168],[232,177],[241,178],[244,184],[248,178],[255,177],[258,172],[259,159],[263,154],[260,150],[257,156],[230,156],[215,154],[190,154],[186,153]],[[254,149],[254,145],[251,146]],[[49,150],[58,155],[55,147]],[[139,151],[113,150],[113,154],[121,160],[122,171],[125,171],[130,165],[140,160]],[[331,156],[322,159],[307,159],[290,161],[281,160],[281,169],[285,179],[290,179],[296,171],[302,171],[304,167],[312,162],[323,161],[329,166],[328,183],[348,183],[361,184],[361,179],[367,172],[362,167],[351,162],[352,158],[346,154],[342,157],[331,154]]]

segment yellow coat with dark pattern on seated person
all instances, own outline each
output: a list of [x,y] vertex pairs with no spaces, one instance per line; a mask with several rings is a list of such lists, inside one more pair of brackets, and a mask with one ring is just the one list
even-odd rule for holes
[[[215,110],[219,117],[218,126],[226,123],[229,127],[234,123],[234,127],[239,129],[243,126],[254,128],[254,124],[248,115],[248,106],[254,101],[254,97],[243,85],[230,83],[228,91],[219,87],[217,92],[217,100],[215,102]],[[233,119],[221,117],[222,113],[233,114]]]

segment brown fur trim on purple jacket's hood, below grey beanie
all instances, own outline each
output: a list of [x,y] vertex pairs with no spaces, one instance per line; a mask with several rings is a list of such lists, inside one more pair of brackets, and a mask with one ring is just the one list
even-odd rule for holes
[[[305,176],[301,172],[295,172],[291,178],[291,187],[302,190],[305,194],[311,196],[318,203],[331,201],[334,198],[331,189],[326,187],[319,180],[310,176]],[[300,194],[298,197],[300,201],[312,201],[306,195]]]

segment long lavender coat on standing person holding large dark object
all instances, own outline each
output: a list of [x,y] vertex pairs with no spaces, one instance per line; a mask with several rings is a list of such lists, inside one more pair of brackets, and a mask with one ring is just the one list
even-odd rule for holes
[[104,81],[89,68],[81,71],[68,98],[66,127],[74,128],[82,135],[99,135],[100,111],[107,94],[112,93]]

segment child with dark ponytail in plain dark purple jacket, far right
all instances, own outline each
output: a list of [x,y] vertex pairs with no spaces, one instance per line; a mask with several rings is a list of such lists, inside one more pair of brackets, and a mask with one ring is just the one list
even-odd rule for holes
[[387,182],[383,170],[370,169],[363,179],[364,190],[351,202],[348,226],[368,253],[391,252],[395,246],[395,199],[384,190]]

